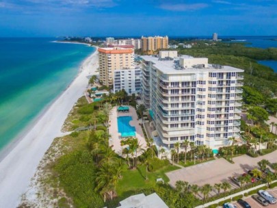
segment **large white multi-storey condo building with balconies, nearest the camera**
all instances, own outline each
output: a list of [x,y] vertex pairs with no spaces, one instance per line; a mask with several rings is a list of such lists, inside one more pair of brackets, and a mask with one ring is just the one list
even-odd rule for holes
[[207,58],[142,59],[142,99],[168,148],[189,140],[218,149],[240,137],[243,70]]

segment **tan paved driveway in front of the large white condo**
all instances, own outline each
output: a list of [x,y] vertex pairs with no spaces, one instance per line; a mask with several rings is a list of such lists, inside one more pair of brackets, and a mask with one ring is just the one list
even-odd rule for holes
[[[222,183],[226,180],[229,181],[230,177],[240,176],[247,170],[257,168],[258,161],[261,161],[262,159],[267,159],[272,163],[277,162],[277,151],[256,158],[248,155],[241,155],[233,159],[235,164],[230,164],[224,158],[215,159],[196,166],[174,170],[166,173],[166,175],[170,179],[170,185],[173,187],[176,181],[179,180],[200,186],[205,183],[214,185],[215,183]],[[232,183],[232,185],[235,187],[235,184]]]

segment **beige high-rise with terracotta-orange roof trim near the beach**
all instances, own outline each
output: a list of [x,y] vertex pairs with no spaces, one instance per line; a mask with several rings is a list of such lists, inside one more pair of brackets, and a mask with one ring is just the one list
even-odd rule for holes
[[133,49],[98,48],[99,79],[105,86],[114,85],[114,70],[134,68]]

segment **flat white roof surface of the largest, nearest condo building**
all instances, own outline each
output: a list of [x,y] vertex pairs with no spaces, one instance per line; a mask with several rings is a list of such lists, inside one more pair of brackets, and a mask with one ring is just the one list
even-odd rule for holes
[[[159,60],[159,57],[155,57],[153,55],[141,55],[143,60],[147,62],[152,62],[158,70],[160,70],[163,74],[192,74],[192,73],[210,73],[210,72],[220,72],[220,73],[228,73],[228,72],[237,72],[242,73],[244,70],[240,68],[235,68],[232,66],[222,66],[222,68],[215,68],[212,64],[209,64],[206,68],[183,68],[181,70],[177,70],[175,68],[176,63],[174,61],[179,60],[175,58],[174,60]],[[194,57],[190,55],[182,55],[184,59],[193,59]]]

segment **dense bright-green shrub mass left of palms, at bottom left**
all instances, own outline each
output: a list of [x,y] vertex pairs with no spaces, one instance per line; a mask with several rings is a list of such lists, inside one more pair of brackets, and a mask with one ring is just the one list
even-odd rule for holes
[[54,166],[60,185],[74,207],[104,207],[101,196],[94,191],[96,167],[88,151],[73,151],[63,155]]

